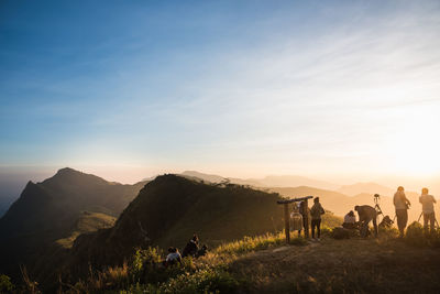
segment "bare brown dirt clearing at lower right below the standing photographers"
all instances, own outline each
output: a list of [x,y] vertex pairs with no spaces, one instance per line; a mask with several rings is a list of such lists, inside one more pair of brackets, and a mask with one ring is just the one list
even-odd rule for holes
[[244,255],[231,271],[253,293],[440,293],[440,250],[399,240],[333,240]]

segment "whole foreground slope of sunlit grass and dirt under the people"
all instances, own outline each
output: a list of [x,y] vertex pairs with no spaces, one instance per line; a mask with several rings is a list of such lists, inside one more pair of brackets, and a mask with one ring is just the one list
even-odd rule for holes
[[398,239],[395,230],[378,239],[320,242],[264,235],[224,243],[182,265],[160,265],[161,250],[136,251],[122,266],[111,266],[63,293],[438,293],[440,231],[430,238],[419,225]]

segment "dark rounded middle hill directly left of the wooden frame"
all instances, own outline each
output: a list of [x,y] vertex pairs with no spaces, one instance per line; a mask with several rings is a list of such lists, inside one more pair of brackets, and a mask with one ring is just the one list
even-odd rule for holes
[[208,185],[177,175],[148,183],[113,228],[75,241],[74,262],[121,262],[135,247],[183,248],[197,232],[208,246],[282,229],[277,194],[237,185]]

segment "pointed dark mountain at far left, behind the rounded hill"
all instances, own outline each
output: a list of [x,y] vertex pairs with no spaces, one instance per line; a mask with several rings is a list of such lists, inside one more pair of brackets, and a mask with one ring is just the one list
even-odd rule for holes
[[0,219],[0,271],[31,264],[56,240],[70,237],[84,211],[118,217],[144,184],[110,183],[72,168],[29,182]]

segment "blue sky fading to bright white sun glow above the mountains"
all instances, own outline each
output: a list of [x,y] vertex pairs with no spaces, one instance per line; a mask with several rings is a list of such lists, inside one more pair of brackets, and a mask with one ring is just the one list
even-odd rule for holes
[[439,47],[439,1],[3,0],[0,170],[438,183]]

